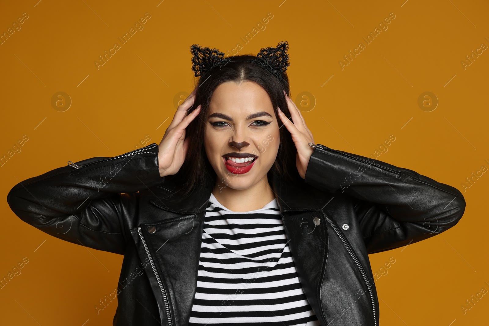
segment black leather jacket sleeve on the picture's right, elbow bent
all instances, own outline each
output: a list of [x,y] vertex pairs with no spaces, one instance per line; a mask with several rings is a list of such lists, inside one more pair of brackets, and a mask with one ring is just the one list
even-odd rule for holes
[[352,197],[369,254],[444,232],[457,224],[466,206],[462,193],[452,186],[320,144],[312,152],[305,182]]

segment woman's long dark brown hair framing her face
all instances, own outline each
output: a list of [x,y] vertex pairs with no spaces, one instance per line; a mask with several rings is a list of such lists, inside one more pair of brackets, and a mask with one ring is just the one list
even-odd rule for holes
[[226,65],[215,67],[207,74],[200,76],[197,84],[194,105],[188,114],[202,105],[197,117],[190,122],[185,130],[185,136],[190,138],[189,149],[185,160],[177,174],[169,176],[176,186],[176,192],[187,197],[201,185],[213,185],[216,183],[217,174],[212,168],[204,149],[205,117],[209,109],[212,94],[222,83],[233,81],[238,84],[249,81],[263,87],[270,97],[273,111],[279,125],[281,144],[277,158],[267,174],[271,184],[271,174],[275,174],[291,183],[301,181],[296,168],[297,149],[292,141],[289,130],[283,126],[278,117],[277,107],[290,118],[287,101],[283,90],[289,95],[289,78],[287,72],[282,73],[282,81],[279,81],[271,72],[248,60],[256,58],[253,55],[238,55],[228,57],[231,59]]

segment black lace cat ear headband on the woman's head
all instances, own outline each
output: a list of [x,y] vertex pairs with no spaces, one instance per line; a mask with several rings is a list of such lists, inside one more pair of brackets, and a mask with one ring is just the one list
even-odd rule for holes
[[[282,41],[276,47],[262,48],[256,55],[256,59],[251,59],[249,62],[260,65],[277,77],[279,81],[282,81],[282,74],[290,65],[288,49],[289,43]],[[224,58],[224,53],[218,49],[201,47],[199,44],[190,46],[190,51],[192,52],[192,70],[195,72],[195,77],[205,75],[212,68],[226,65],[231,61],[230,58]]]

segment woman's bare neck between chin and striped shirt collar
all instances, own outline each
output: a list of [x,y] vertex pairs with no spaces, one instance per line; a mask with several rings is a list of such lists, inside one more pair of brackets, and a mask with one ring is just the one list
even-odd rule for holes
[[220,181],[217,181],[212,194],[224,207],[233,212],[258,210],[275,199],[275,194],[268,183],[267,177],[243,190],[222,186]]

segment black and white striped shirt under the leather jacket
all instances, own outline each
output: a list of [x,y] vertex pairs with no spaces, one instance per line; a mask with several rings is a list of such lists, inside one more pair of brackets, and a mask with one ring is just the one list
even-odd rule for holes
[[233,212],[211,194],[189,325],[258,323],[320,325],[299,283],[277,200]]

